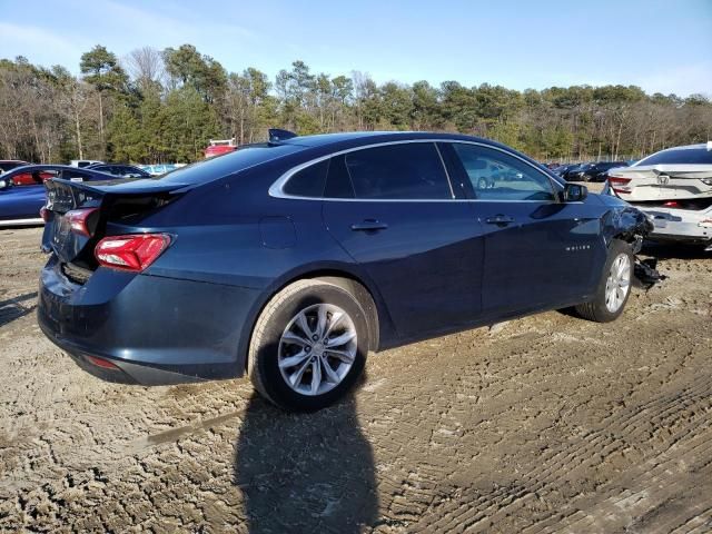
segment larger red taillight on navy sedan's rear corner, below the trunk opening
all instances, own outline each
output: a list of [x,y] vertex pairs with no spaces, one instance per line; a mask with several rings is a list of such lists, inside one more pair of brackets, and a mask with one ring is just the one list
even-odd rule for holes
[[170,245],[167,234],[136,234],[105,237],[93,255],[103,267],[140,273]]

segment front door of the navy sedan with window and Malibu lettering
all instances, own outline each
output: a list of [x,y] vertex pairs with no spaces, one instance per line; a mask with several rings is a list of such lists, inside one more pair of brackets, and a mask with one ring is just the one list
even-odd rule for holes
[[471,188],[473,216],[484,227],[483,313],[583,301],[605,258],[594,199],[558,201],[551,178],[508,151],[477,144],[449,147]]

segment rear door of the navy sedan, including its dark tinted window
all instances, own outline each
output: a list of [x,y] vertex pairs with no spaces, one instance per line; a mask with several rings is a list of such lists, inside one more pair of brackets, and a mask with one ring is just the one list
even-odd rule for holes
[[435,144],[335,156],[325,197],[328,230],[377,285],[402,337],[479,314],[482,226],[455,198]]

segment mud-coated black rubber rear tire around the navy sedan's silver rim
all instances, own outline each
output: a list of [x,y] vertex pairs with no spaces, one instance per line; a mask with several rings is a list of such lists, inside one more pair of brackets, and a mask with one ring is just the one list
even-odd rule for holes
[[[322,395],[301,395],[291,389],[277,365],[279,339],[287,324],[304,308],[315,304],[332,304],[344,309],[356,326],[356,358],[342,383]],[[326,283],[305,287],[290,295],[273,313],[265,332],[255,347],[257,373],[260,374],[263,387],[270,399],[278,406],[297,412],[314,412],[334,404],[356,383],[366,364],[368,353],[368,325],[366,314],[358,300],[345,289]]]

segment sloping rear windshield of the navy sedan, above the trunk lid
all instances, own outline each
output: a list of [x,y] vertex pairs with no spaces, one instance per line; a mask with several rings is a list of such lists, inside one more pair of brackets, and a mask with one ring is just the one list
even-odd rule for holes
[[159,179],[176,184],[202,184],[303,149],[304,147],[298,145],[253,145],[181,167]]

